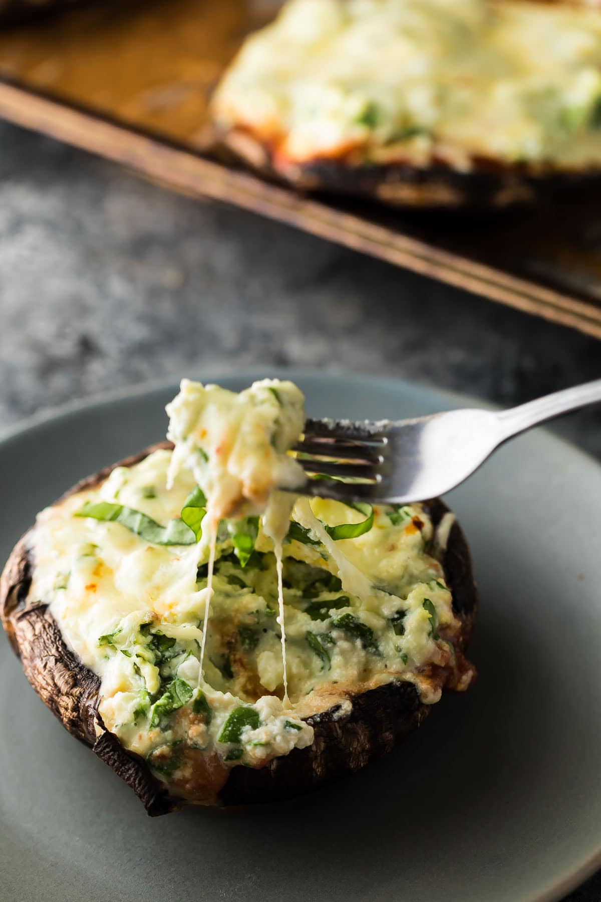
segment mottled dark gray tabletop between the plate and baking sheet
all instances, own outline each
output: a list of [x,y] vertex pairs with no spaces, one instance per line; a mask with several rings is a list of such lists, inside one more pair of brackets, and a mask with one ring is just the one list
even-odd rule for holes
[[[398,374],[503,404],[601,345],[0,127],[0,426],[202,367]],[[601,410],[556,427],[601,458]],[[601,898],[601,876],[570,902]]]

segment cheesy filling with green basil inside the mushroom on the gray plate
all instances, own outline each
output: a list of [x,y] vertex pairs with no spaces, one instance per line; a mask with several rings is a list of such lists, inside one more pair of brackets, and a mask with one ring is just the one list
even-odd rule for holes
[[285,456],[301,393],[222,392],[183,382],[175,450],[41,511],[32,534],[31,597],[99,676],[105,728],[198,803],[232,767],[310,745],[306,718],[353,694],[409,680],[432,704],[472,676],[425,508],[278,492],[304,478]]

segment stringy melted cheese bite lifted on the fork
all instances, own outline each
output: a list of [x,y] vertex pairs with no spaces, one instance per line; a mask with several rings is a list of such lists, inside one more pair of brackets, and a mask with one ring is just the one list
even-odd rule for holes
[[[305,425],[305,400],[292,382],[264,379],[236,394],[218,385],[184,379],[167,406],[168,438],[174,443],[168,486],[183,468],[194,474],[207,498],[209,545],[207,603],[200,668],[204,674],[205,639],[213,595],[214,557],[220,520],[260,514],[273,539],[278,572],[278,625],[282,631],[284,704],[288,704],[286,625],[282,592],[282,542],[294,498],[281,489],[305,482],[302,467],[287,456]],[[202,538],[201,538],[202,542]]]

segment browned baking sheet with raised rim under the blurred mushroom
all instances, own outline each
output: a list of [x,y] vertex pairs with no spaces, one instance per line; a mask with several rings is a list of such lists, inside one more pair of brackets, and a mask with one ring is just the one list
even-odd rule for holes
[[91,5],[0,33],[0,116],[194,197],[601,338],[601,192],[477,218],[307,198],[214,153],[208,100],[272,0]]

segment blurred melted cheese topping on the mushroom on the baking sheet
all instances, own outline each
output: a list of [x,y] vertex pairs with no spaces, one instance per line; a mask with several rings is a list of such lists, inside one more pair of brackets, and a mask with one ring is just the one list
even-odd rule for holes
[[282,161],[601,162],[601,12],[499,0],[289,0],[214,97]]

